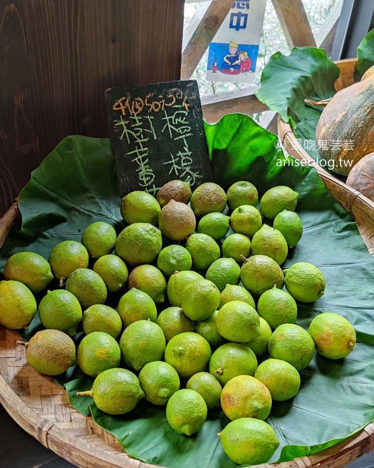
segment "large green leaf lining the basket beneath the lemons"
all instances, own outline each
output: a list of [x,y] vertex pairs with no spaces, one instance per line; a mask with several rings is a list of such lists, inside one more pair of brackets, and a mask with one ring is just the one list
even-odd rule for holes
[[[284,267],[301,260],[314,263],[327,285],[317,302],[298,304],[298,323],[307,328],[320,312],[333,311],[355,327],[354,351],[337,361],[316,355],[301,371],[299,393],[292,400],[274,402],[267,420],[281,441],[271,461],[315,453],[359,431],[374,418],[374,259],[354,220],[330,195],[316,170],[288,167],[275,148],[275,135],[241,114],[227,115],[205,127],[214,180],[224,188],[236,180],[249,180],[260,195],[275,185],[288,185],[299,192],[297,210],[304,225],[303,237]],[[56,242],[79,240],[85,226],[97,219],[106,219],[121,229],[120,196],[109,141],[65,139],[34,171],[19,205],[22,228],[20,232],[14,228],[9,235],[1,264],[11,253],[26,248],[47,257]],[[51,213],[51,219],[46,219],[46,213]],[[110,296],[109,300],[113,304],[118,298]],[[36,318],[28,333],[39,326]],[[77,391],[92,385],[92,379],[77,368],[59,378],[59,383],[66,386],[78,411],[91,412],[134,457],[175,468],[236,467],[216,436],[228,422],[219,410],[210,412],[203,429],[188,438],[170,429],[164,408],[145,401],[123,416],[99,411],[91,397],[76,396]]]

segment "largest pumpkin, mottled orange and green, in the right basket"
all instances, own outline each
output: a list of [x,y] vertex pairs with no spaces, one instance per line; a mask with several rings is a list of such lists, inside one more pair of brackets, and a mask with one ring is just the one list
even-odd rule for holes
[[321,157],[334,161],[332,170],[341,175],[374,151],[374,75],[333,96],[318,120],[316,140]]

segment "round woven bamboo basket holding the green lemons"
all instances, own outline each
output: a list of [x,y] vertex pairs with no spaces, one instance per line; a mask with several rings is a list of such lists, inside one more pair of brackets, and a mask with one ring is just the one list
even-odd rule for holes
[[[361,237],[374,256],[374,203],[327,174],[323,181],[356,219]],[[17,202],[0,219],[0,248],[10,226],[20,218]],[[118,440],[77,412],[65,389],[27,364],[17,331],[0,326],[0,403],[25,431],[79,468],[157,468],[128,456]],[[141,436],[141,434],[139,434]],[[342,468],[374,448],[374,424],[315,455],[262,468]],[[255,467],[256,468],[256,467]]]

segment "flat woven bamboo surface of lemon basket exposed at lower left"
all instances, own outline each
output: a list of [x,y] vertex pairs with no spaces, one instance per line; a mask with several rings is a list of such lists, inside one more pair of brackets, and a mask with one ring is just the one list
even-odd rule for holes
[[[139,466],[139,460],[131,459],[112,434],[97,426],[91,416],[86,417],[72,407],[66,390],[60,387],[52,377],[39,374],[27,364],[25,348],[17,344],[17,340],[22,340],[18,332],[0,326],[1,383],[7,386],[9,398],[12,398],[11,393],[14,393],[13,401],[8,400],[8,405],[12,405],[12,416],[15,412],[22,413],[24,410],[22,403],[34,412],[34,423],[37,424],[32,435],[47,448],[50,448],[50,432],[57,426],[63,431],[67,443],[69,443],[69,437],[75,442],[80,439],[83,443],[94,446],[97,453],[103,451],[106,457],[111,454],[117,467]],[[16,406],[14,406],[14,400],[16,400]],[[9,411],[6,402],[1,402]],[[30,423],[33,424],[32,421]],[[70,457],[70,461],[78,463],[74,453],[72,455],[73,458]],[[82,465],[82,460],[79,463],[80,466],[86,466]]]

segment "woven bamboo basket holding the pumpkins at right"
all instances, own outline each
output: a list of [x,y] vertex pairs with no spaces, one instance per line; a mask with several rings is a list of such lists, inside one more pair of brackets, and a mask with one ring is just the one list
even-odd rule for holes
[[[335,63],[340,69],[340,75],[335,82],[335,89],[339,91],[354,83],[357,60],[350,58],[338,60]],[[315,167],[325,186],[344,208],[353,214],[361,237],[368,246],[370,253],[374,255],[374,203],[359,191],[347,186],[344,182],[330,175],[324,168],[318,166],[315,160],[300,145],[288,123],[284,122],[279,115],[278,134],[284,140],[287,152],[299,161]]]

